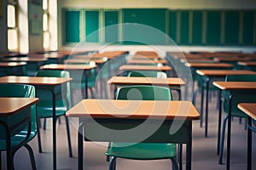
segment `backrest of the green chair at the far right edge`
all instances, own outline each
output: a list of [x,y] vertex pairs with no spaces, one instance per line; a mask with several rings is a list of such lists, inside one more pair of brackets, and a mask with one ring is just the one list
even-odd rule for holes
[[[228,75],[225,77],[225,82],[256,82],[256,75]],[[243,94],[236,94],[232,99],[232,115],[233,116],[246,116],[241,110],[237,108],[237,105],[241,102],[255,103],[256,97],[250,92]],[[224,111],[228,111],[227,99],[224,100]]]

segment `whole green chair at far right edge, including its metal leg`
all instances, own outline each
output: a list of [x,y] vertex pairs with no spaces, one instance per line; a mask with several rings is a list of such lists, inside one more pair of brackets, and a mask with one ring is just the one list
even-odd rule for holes
[[[229,75],[225,78],[225,81],[226,82],[256,82],[256,75]],[[256,102],[256,98],[252,94],[237,94],[237,95],[234,95],[232,98],[231,116],[247,119],[247,115],[237,107],[237,105],[241,102],[254,103]],[[228,120],[229,104],[227,99],[224,99],[223,111],[226,114],[226,116],[224,117],[224,121],[222,125],[222,135],[220,139],[219,157],[218,157],[219,164],[222,163],[223,150],[224,150],[225,126]]]

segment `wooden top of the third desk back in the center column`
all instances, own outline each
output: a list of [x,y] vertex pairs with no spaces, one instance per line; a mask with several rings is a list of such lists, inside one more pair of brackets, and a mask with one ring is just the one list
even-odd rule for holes
[[154,66],[154,65],[121,65],[119,67],[120,71],[172,71],[172,67],[164,66]]

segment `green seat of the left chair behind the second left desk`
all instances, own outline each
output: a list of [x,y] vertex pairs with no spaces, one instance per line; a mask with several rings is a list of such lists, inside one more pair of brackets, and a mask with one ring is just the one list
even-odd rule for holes
[[[40,101],[38,103],[38,118],[52,117],[52,104],[50,101]],[[56,116],[63,116],[67,111],[67,106],[63,105],[62,100],[57,100],[55,103]]]

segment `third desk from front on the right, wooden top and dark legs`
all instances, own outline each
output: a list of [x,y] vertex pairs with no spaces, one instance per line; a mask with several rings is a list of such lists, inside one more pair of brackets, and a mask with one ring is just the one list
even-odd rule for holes
[[[224,78],[227,75],[256,75],[254,71],[246,70],[197,70],[196,73],[201,76],[201,120],[203,117],[203,108],[204,108],[204,91],[206,90],[206,129],[205,137],[208,134],[208,103],[209,103],[209,83],[212,79],[218,78],[218,80]],[[219,149],[219,137],[220,137],[220,124],[218,124],[218,149]]]

